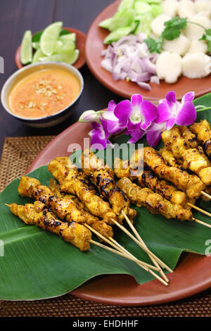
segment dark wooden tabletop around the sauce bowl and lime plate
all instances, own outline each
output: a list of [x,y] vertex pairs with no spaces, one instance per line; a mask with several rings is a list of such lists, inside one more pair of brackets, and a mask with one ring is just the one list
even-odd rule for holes
[[[55,21],[63,21],[66,27],[75,27],[87,33],[96,15],[113,0],[1,0],[0,1],[0,56],[4,58],[4,73],[0,73],[0,89],[6,79],[17,70],[15,50],[25,30],[39,31]],[[91,74],[87,65],[81,69],[84,92],[75,114],[65,123],[49,129],[34,129],[23,125],[8,115],[0,104],[0,151],[5,137],[58,135],[77,121],[88,109],[101,109],[110,99],[120,101],[120,96],[108,91]]]

